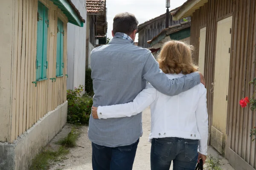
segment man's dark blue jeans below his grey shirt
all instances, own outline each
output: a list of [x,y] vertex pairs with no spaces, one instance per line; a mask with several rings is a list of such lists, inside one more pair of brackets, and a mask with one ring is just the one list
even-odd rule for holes
[[92,143],[93,170],[132,170],[139,139],[134,144],[105,147]]

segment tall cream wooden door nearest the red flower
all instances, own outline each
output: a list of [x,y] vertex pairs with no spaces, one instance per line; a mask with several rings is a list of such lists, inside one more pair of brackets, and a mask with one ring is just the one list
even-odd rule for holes
[[224,153],[230,70],[232,16],[217,23],[211,145]]

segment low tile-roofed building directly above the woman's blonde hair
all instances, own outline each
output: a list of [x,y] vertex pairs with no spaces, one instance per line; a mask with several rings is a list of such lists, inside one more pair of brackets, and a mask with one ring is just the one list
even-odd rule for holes
[[165,42],[178,40],[190,44],[190,26],[191,21],[189,20],[163,29],[157,36],[148,41],[148,44],[151,46],[151,48],[148,49],[152,52],[153,56],[157,58]]

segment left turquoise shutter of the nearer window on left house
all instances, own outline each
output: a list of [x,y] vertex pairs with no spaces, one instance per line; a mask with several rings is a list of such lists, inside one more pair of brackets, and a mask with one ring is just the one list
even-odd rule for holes
[[44,37],[44,5],[38,2],[38,25],[37,25],[37,45],[36,45],[36,79],[42,79],[42,54]]

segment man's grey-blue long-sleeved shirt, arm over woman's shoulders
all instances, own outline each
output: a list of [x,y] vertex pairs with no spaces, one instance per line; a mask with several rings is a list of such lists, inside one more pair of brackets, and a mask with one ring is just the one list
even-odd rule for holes
[[[151,51],[119,38],[93,49],[90,64],[95,107],[131,102],[147,82],[169,96],[180,94],[200,83],[198,73],[169,80],[159,69]],[[135,143],[142,134],[141,113],[113,119],[93,119],[90,116],[88,136],[95,144],[126,146]]]

